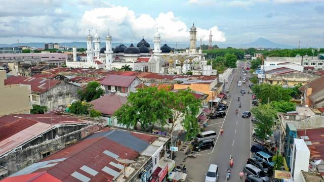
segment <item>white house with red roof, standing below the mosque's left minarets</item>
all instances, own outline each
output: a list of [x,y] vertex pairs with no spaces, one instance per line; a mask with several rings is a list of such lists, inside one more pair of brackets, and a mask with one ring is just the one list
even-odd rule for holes
[[137,76],[107,75],[100,84],[105,88],[106,93],[118,92],[129,95],[136,92],[136,86],[141,83]]

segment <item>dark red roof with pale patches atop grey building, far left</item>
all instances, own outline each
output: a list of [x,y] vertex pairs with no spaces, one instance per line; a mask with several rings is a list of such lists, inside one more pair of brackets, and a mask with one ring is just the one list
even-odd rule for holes
[[46,80],[42,78],[34,78],[34,77],[25,77],[25,76],[10,76],[5,79],[5,85],[10,84],[26,84],[30,85],[32,92],[44,93],[49,88],[54,87],[59,84],[60,80]]

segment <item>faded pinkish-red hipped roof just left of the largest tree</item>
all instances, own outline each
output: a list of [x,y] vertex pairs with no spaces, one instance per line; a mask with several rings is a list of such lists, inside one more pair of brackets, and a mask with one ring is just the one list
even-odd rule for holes
[[127,98],[117,94],[109,94],[102,96],[90,102],[92,108],[99,110],[102,114],[113,115],[113,113],[126,104]]

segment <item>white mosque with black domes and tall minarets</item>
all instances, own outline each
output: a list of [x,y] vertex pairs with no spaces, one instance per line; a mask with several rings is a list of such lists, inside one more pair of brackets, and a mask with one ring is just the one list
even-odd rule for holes
[[[87,59],[76,61],[76,48],[73,48],[73,61],[66,62],[71,68],[96,68],[112,70],[129,65],[132,70],[154,72],[154,73],[186,73],[189,70],[201,69],[206,65],[205,54],[196,50],[196,27],[190,28],[190,48],[184,53],[173,53],[169,45],[160,46],[161,36],[157,29],[154,33],[153,49],[150,44],[142,38],[136,46],[132,43],[129,47],[120,44],[112,48],[112,36],[105,36],[105,47],[100,48],[100,35],[96,32],[93,37],[87,36]],[[181,66],[179,66],[181,65]]]

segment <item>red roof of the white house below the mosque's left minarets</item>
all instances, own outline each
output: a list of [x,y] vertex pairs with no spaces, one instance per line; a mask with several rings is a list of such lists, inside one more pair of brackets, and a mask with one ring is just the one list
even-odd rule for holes
[[128,87],[136,78],[137,76],[107,75],[101,84]]

